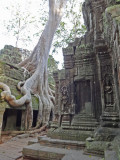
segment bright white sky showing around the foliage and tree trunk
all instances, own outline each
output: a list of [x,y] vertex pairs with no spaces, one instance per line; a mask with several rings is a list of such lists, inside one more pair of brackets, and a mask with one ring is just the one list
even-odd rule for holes
[[[84,0],[79,0],[79,2],[83,2]],[[15,5],[17,3],[20,4],[21,6],[21,10],[23,10],[23,14],[24,11],[29,11],[29,13],[34,16],[37,17],[38,14],[40,14],[40,10],[44,10],[48,9],[47,6],[40,6],[40,2],[41,0],[0,0],[0,49],[4,48],[4,46],[7,45],[13,45],[15,46],[15,37],[12,36],[10,34],[10,32],[8,33],[8,31],[6,30],[6,25],[12,17],[12,13],[10,12],[11,8],[14,8]],[[14,7],[12,7],[14,6]],[[9,10],[6,9],[6,7],[9,8]],[[41,8],[40,8],[41,7]],[[14,13],[13,13],[14,14]],[[39,26],[42,27],[42,26]],[[29,29],[29,34],[34,33],[35,30],[38,30],[39,27],[31,27],[28,26]],[[27,28],[27,27],[26,27]],[[26,32],[27,34],[27,32]],[[24,35],[24,37],[27,35]],[[33,50],[33,48],[35,47],[35,45],[37,44],[39,37],[36,38],[32,38],[32,43],[29,43],[27,46],[24,45],[24,43],[19,44],[19,48],[24,48],[24,49],[28,49],[28,50]],[[59,49],[58,54],[54,54],[53,55],[55,60],[59,61],[59,69],[62,68],[62,63],[63,63],[63,56],[62,56],[62,48]]]

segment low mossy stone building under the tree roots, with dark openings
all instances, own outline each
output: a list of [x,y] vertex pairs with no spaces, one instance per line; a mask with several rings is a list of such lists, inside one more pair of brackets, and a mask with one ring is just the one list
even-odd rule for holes
[[[15,65],[21,61],[22,52],[26,51],[8,45],[6,45],[4,49],[0,51],[0,82],[3,82],[10,87],[11,92],[16,96],[16,99],[22,97],[20,91],[16,88],[18,82],[24,81],[29,77],[28,74],[24,75],[24,70],[22,68],[19,68]],[[35,126],[38,112],[38,99],[34,96],[32,97],[32,99],[34,108],[33,125]],[[0,130],[24,130],[25,116],[25,106],[12,108],[6,101],[3,101],[0,97]]]

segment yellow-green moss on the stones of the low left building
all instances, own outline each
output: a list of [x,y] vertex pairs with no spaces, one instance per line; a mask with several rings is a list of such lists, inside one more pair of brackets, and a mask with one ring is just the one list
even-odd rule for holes
[[[15,51],[16,50],[14,50],[14,52]],[[8,52],[7,46],[5,47],[4,51],[1,50],[0,52]],[[12,52],[12,55],[14,55],[14,52]],[[16,97],[16,100],[22,97],[20,91],[17,90],[17,84],[22,80],[24,80],[23,69],[18,68],[9,62],[0,61],[0,82],[3,82],[10,87],[11,93]],[[0,89],[0,93],[1,92],[2,90]],[[2,100],[0,96],[0,104],[3,104],[3,102],[5,101]],[[33,110],[38,110],[39,100],[37,97],[32,96],[32,104]],[[6,108],[11,108],[7,102],[5,102],[5,106]],[[20,107],[17,109],[25,109],[25,105],[23,105],[22,108]]]

